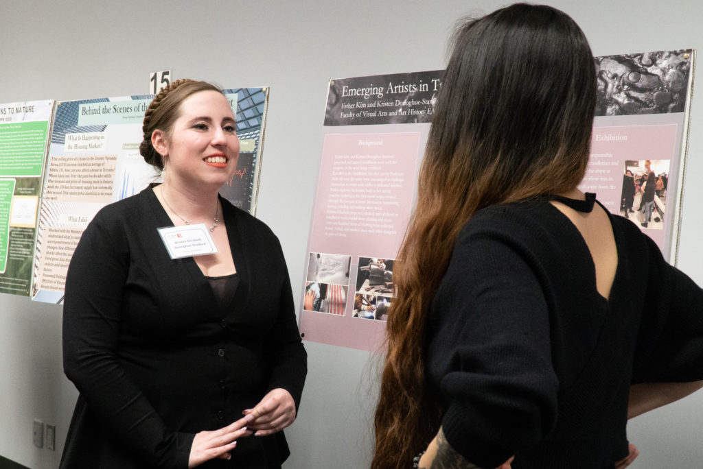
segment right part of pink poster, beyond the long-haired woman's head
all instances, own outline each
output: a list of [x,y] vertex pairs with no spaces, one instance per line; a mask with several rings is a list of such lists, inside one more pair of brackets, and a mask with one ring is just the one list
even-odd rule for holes
[[580,188],[631,218],[676,263],[695,51],[608,55],[595,65],[598,102]]

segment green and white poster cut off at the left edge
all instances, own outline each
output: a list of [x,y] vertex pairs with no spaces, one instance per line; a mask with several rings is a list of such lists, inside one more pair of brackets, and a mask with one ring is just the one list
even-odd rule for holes
[[0,293],[29,296],[53,100],[0,104]]

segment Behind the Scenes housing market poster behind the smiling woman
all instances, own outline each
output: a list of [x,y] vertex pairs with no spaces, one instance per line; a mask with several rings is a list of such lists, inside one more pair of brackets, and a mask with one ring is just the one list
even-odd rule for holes
[[[267,88],[225,90],[237,119],[240,159],[221,194],[253,211]],[[142,121],[152,95],[63,101],[56,106],[39,228],[32,299],[62,303],[68,263],[85,227],[103,206],[160,181],[139,154]]]

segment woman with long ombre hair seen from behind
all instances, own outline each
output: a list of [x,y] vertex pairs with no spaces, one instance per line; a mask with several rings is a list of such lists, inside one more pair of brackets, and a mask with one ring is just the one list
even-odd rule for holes
[[703,378],[703,292],[576,188],[595,100],[565,13],[458,27],[394,269],[372,468],[624,467],[628,416],[702,385],[669,383]]

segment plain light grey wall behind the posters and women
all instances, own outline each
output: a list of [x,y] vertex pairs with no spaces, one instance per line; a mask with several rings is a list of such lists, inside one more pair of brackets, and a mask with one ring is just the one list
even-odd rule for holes
[[[699,0],[548,0],[583,27],[595,55],[703,47]],[[0,103],[147,93],[148,73],[271,86],[258,216],[302,283],[327,80],[444,67],[449,29],[502,0],[0,0]],[[568,60],[568,58],[565,58]],[[694,98],[679,266],[703,284],[703,98]],[[285,192],[284,192],[285,191]],[[287,194],[283,197],[283,194]],[[0,295],[0,456],[56,468],[77,393],[60,361],[61,310]],[[288,431],[286,468],[370,461],[375,360],[308,343],[309,377]],[[703,393],[631,422],[635,468],[699,468]],[[57,425],[57,451],[32,446],[32,420]]]

